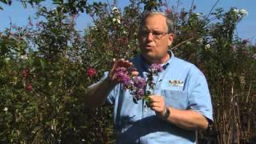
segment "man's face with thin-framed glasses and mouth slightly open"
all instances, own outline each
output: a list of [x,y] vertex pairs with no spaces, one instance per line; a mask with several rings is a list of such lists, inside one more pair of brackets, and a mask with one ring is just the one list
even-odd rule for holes
[[149,62],[161,62],[166,58],[168,46],[173,42],[173,34],[167,34],[166,18],[154,14],[145,19],[140,26],[139,45],[142,56]]

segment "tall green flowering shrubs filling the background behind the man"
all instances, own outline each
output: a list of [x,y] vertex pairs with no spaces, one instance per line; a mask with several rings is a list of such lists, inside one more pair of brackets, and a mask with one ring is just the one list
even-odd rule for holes
[[[112,107],[90,110],[84,94],[110,70],[112,58],[138,54],[138,25],[146,10],[166,10],[176,29],[170,49],[206,74],[214,125],[199,134],[200,142],[252,142],[256,46],[234,35],[244,12],[217,9],[208,18],[171,11],[162,1],[134,0],[123,10],[102,2],[53,2],[57,9],[38,10],[44,21],[0,32],[0,142],[113,143]],[[75,14],[83,10],[94,26],[80,34]]]

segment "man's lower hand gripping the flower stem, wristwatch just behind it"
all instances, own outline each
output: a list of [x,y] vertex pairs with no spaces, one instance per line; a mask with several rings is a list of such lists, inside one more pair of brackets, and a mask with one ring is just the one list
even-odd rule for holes
[[166,102],[161,95],[150,95],[151,99],[150,108],[155,111],[155,113],[161,117],[166,114]]

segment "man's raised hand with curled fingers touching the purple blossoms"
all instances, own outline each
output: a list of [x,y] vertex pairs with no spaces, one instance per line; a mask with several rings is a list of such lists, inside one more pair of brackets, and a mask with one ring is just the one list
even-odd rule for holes
[[[114,65],[112,66],[112,69],[110,70],[110,74],[109,74],[109,78],[112,82],[118,83],[118,79],[115,75],[115,70],[118,69],[118,67],[122,67],[126,69],[126,74],[128,74],[128,69],[132,66],[134,66],[131,62],[122,59],[119,59],[118,61],[116,61],[115,59],[113,59],[113,63]],[[131,74],[133,76],[138,76],[138,71],[134,70],[131,72]]]

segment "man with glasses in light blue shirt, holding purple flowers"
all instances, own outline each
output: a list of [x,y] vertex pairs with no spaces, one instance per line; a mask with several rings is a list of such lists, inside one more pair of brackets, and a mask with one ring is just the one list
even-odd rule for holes
[[[86,102],[114,105],[117,143],[195,143],[196,130],[205,130],[213,122],[212,105],[206,78],[193,64],[174,57],[168,50],[174,39],[173,26],[166,14],[145,14],[139,27],[141,54],[129,61],[114,62],[110,74],[90,86]],[[144,100],[133,102],[129,90],[117,82],[114,70],[135,66],[146,77],[150,64],[164,68],[154,78],[150,108]]]

